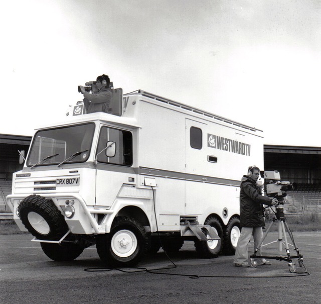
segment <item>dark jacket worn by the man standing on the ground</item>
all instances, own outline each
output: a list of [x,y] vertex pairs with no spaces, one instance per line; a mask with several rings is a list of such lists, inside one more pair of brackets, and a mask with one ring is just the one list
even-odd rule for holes
[[271,206],[272,198],[261,195],[256,181],[243,176],[240,190],[241,227],[264,227],[263,204]]

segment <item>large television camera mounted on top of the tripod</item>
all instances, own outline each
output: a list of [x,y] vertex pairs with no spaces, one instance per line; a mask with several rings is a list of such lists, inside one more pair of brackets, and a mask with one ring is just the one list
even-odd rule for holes
[[286,191],[296,190],[295,182],[281,181],[280,172],[264,171],[264,192],[269,197],[275,197],[279,205],[284,205]]

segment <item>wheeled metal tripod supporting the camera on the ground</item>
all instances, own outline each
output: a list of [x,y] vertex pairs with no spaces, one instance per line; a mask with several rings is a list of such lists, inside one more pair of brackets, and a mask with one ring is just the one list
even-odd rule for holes
[[[272,210],[273,211],[273,210]],[[274,212],[274,211],[273,211]],[[279,255],[278,256],[258,256],[256,255],[256,253],[260,250],[260,248],[262,247],[262,244],[267,236],[267,234],[269,233],[272,225],[277,222],[277,225],[278,225],[278,245],[279,245]],[[287,238],[286,238],[286,233],[285,233],[285,229],[292,241],[292,244],[291,246],[294,247],[294,250],[296,252],[296,255],[295,256],[291,256],[290,255],[290,250],[289,250],[289,244],[287,242]],[[282,239],[282,235],[284,237],[284,241]],[[274,242],[272,242],[274,243]],[[271,243],[269,243],[271,244]],[[286,249],[286,255],[282,255],[282,245],[285,246],[285,249]],[[251,267],[253,268],[256,268],[257,266],[257,262],[254,261],[255,258],[268,258],[268,259],[275,259],[275,260],[279,260],[279,261],[287,261],[288,262],[288,266],[289,266],[289,271],[290,272],[296,272],[296,268],[295,268],[295,264],[292,263],[292,259],[293,258],[297,258],[298,259],[298,264],[299,264],[299,267],[302,267],[304,266],[303,265],[303,256],[299,254],[299,251],[298,251],[298,248],[296,247],[295,245],[295,242],[294,242],[294,238],[293,238],[293,235],[292,235],[292,232],[291,230],[289,229],[286,221],[285,221],[285,216],[284,216],[284,208],[280,205],[278,205],[276,208],[275,208],[275,212],[274,212],[274,217],[273,217],[273,220],[272,222],[270,223],[270,225],[268,226],[261,242],[258,244],[257,248],[255,249],[254,251],[254,254],[250,256],[251,258]],[[305,267],[304,267],[305,268]],[[305,268],[305,271],[306,272],[306,268]]]

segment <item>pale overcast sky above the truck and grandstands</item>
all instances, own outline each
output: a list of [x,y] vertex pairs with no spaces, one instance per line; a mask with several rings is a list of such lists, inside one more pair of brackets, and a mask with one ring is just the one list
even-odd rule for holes
[[0,133],[63,121],[77,86],[155,93],[321,146],[319,0],[2,2]]

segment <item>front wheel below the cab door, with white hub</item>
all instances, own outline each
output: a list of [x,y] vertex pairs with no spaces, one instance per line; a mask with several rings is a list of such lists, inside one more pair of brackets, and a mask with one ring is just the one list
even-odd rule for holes
[[97,252],[100,259],[110,266],[133,266],[147,248],[145,229],[135,219],[115,218],[110,233],[98,235]]

